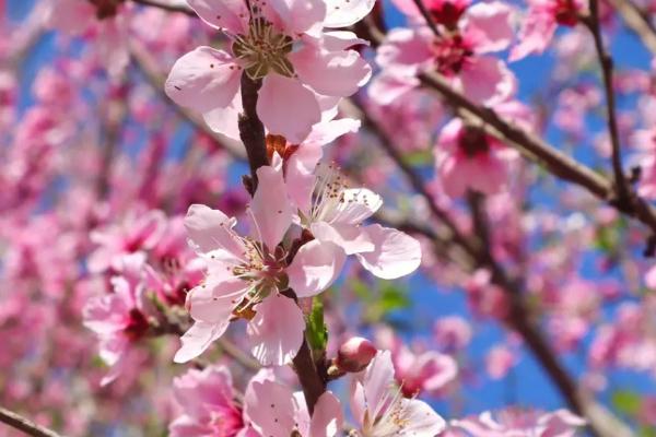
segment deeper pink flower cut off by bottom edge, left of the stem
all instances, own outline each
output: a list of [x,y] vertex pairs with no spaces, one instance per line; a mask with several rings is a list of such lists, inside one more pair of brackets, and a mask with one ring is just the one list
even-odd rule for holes
[[173,392],[183,414],[168,426],[172,437],[234,437],[253,433],[235,403],[226,367],[190,369],[173,380]]

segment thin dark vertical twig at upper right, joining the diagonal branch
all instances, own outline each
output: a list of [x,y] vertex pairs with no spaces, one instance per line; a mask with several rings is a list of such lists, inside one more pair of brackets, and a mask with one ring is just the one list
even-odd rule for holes
[[604,91],[606,93],[606,113],[608,117],[608,133],[612,145],[612,172],[614,176],[614,188],[617,190],[616,201],[620,209],[630,209],[632,201],[631,187],[626,182],[624,169],[622,168],[622,155],[620,150],[620,132],[616,115],[616,96],[612,83],[613,62],[612,57],[604,47],[604,37],[601,36],[601,25],[599,23],[599,1],[590,0],[590,14],[583,19],[583,23],[593,34],[595,48],[601,67],[601,78]]

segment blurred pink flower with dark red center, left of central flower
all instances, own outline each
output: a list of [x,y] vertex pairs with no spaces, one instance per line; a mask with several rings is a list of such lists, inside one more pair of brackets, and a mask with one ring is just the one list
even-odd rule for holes
[[121,275],[112,277],[114,293],[92,298],[84,307],[84,326],[101,339],[101,358],[112,368],[102,385],[112,382],[120,374],[130,344],[143,338],[150,328],[143,263],[143,253],[124,256]]

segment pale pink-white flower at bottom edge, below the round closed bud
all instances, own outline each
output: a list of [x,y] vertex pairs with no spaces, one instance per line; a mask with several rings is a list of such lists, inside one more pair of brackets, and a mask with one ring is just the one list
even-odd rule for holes
[[406,399],[394,388],[391,354],[378,352],[366,370],[351,382],[351,412],[363,437],[435,436],[444,420],[423,401]]

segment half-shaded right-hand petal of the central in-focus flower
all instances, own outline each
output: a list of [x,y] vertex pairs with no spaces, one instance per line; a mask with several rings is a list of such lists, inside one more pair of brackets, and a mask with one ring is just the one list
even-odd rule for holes
[[337,280],[345,260],[344,251],[331,243],[315,239],[303,245],[286,271],[290,288],[298,297],[321,293]]

